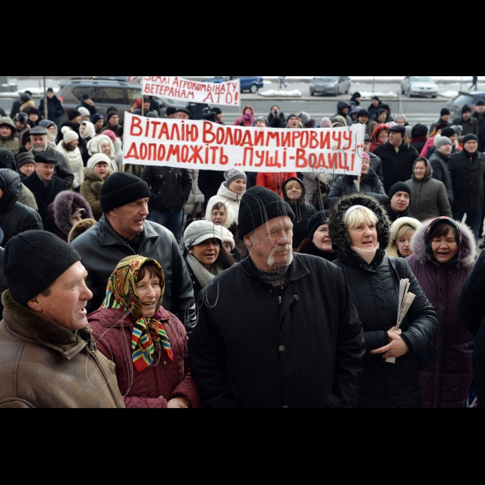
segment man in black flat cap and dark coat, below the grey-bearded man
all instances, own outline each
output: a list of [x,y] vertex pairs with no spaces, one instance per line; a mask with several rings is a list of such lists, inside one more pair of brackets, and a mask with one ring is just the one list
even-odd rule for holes
[[49,220],[47,208],[54,202],[55,197],[59,193],[66,190],[66,186],[60,178],[54,175],[55,165],[58,163],[58,159],[54,155],[41,152],[37,153],[34,159],[34,173],[22,180],[22,183],[35,197],[44,229],[55,234],[57,228],[53,221]]

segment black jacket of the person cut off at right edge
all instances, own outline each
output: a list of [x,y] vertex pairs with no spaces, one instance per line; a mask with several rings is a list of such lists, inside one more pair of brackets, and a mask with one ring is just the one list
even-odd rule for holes
[[468,276],[458,299],[458,312],[465,328],[475,335],[473,374],[478,407],[485,409],[485,251]]

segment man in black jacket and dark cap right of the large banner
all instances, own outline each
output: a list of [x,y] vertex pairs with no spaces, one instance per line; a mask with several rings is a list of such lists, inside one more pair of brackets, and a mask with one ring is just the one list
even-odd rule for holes
[[412,177],[414,161],[419,157],[416,148],[405,141],[406,128],[401,125],[389,128],[389,141],[378,146],[374,155],[382,160],[384,190],[389,190],[398,182],[406,182]]

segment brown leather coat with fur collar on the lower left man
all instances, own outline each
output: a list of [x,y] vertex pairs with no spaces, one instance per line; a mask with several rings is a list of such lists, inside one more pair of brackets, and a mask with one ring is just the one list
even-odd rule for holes
[[123,408],[114,365],[91,341],[19,305],[6,290],[0,322],[0,408]]

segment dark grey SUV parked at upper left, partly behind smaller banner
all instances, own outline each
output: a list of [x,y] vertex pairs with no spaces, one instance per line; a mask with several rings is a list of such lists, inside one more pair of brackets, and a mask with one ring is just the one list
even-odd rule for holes
[[[60,88],[58,97],[66,108],[66,112],[81,104],[83,94],[89,94],[99,114],[106,116],[107,108],[114,106],[118,109],[121,121],[125,119],[125,111],[130,111],[132,100],[142,97],[141,85],[120,80],[72,79],[67,84],[61,85]],[[166,98],[157,97],[157,101],[161,105],[160,116],[162,118],[165,117],[166,108],[169,106],[177,109],[185,107],[185,105],[177,105],[175,101]],[[67,121],[67,114],[62,117],[62,122],[64,121]]]

